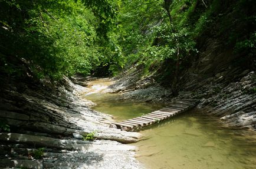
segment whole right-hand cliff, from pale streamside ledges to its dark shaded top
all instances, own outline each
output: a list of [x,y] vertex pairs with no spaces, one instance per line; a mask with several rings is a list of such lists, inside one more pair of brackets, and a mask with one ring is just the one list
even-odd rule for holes
[[[220,1],[207,2],[221,4]],[[201,99],[199,107],[207,108],[205,111],[208,114],[219,116],[229,126],[255,130],[254,7],[252,1],[225,1],[212,11],[209,8],[214,7],[195,8],[198,10],[193,13],[195,15],[206,15],[200,11],[202,8],[206,13],[208,9],[212,13],[211,18],[208,18],[209,23],[196,37],[198,53],[189,56],[189,63],[179,72],[178,97],[172,97],[169,89],[173,79],[173,68],[170,65],[174,65],[171,60],[162,62],[162,65],[155,67],[156,71],[153,70],[147,76],[143,76],[142,66],[133,66],[120,76],[113,88],[116,92],[124,92],[126,98],[142,102]],[[164,84],[165,88],[159,86],[159,83]]]

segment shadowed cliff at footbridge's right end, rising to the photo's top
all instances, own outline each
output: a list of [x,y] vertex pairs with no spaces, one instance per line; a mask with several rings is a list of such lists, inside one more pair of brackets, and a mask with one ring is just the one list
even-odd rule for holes
[[[232,6],[232,4],[231,4]],[[256,129],[255,18],[251,10],[227,7],[198,39],[197,55],[180,77],[180,96],[202,99],[207,113],[219,116],[229,126]],[[224,8],[225,9],[225,8]],[[247,39],[251,48],[242,46]],[[241,46],[239,46],[241,45]],[[241,50],[240,50],[240,49]],[[189,93],[191,92],[191,93]]]

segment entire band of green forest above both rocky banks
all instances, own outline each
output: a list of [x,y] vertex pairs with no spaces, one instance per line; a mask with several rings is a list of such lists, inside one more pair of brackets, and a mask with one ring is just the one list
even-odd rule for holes
[[160,73],[160,81],[171,76],[175,93],[179,72],[196,59],[203,39],[212,37],[239,55],[239,66],[255,69],[253,0],[0,4],[0,71],[8,78],[33,76],[54,82],[76,73],[117,75],[137,64],[145,74]]

